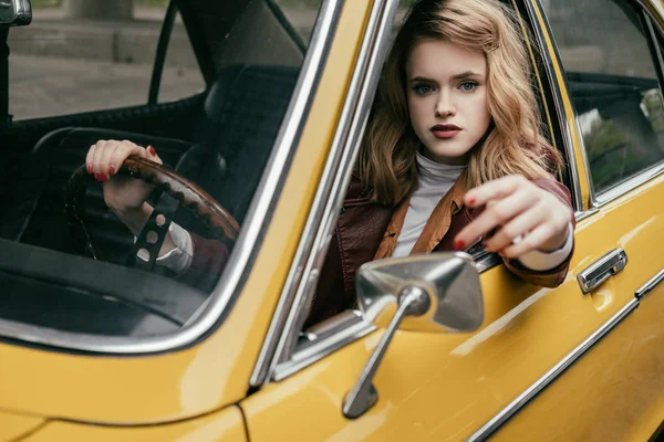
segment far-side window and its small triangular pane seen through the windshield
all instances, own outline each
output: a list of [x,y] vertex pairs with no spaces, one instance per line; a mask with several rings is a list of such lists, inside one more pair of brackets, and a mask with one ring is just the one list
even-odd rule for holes
[[[9,112],[14,120],[147,104],[167,1],[137,1],[128,9],[120,8],[125,0],[32,3],[32,23],[9,33]],[[118,8],[105,7],[110,3]],[[178,17],[159,99],[190,96],[203,88]]]

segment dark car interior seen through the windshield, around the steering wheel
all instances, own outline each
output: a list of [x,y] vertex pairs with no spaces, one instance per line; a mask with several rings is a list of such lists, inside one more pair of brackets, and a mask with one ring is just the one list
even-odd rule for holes
[[[73,249],[63,213],[64,188],[90,146],[129,139],[157,147],[166,167],[208,190],[241,225],[307,44],[271,0],[173,2],[205,92],[172,103],[62,117],[12,123],[0,116],[7,165],[0,181],[2,318],[95,335],[158,335],[181,327],[217,282],[183,288],[158,275],[81,259],[84,251]],[[7,70],[0,75],[7,78]],[[106,209],[101,183],[90,183],[84,206],[95,244],[110,263],[123,265],[134,239]],[[175,221],[205,229],[186,209]],[[175,296],[181,290],[190,294]],[[165,298],[151,299],[151,293]],[[68,311],[80,313],[80,320],[71,320]]]

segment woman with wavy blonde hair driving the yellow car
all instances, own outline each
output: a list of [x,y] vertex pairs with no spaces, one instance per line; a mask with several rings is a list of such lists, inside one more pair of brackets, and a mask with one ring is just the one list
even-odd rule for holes
[[[151,188],[108,180],[128,155],[160,162],[152,147],[100,141],[86,164],[136,233]],[[553,178],[560,162],[540,134],[511,11],[496,0],[416,1],[387,57],[307,325],[349,308],[356,270],[375,259],[484,245],[517,276],[560,284],[573,249],[569,191]],[[227,254],[176,228],[158,262],[219,273]]]

